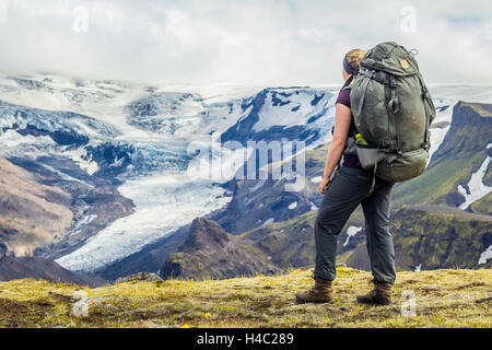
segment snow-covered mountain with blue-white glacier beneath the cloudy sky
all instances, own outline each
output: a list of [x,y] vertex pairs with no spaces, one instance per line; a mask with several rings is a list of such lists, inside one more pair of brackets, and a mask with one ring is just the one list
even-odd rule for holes
[[[132,200],[134,212],[86,236],[81,228],[94,214],[75,215],[63,234],[79,232],[77,244],[49,250],[68,269],[94,272],[231,201],[224,184],[234,175],[237,153],[212,148],[211,156],[231,168],[225,176],[206,176],[199,164],[208,154],[190,152],[191,143],[302,140],[314,149],[330,139],[338,89],[144,85],[3,74],[0,156],[24,167],[36,164],[68,183],[98,188],[104,180]],[[492,102],[492,86],[440,85],[431,92],[437,108],[432,152],[444,140],[459,100]]]

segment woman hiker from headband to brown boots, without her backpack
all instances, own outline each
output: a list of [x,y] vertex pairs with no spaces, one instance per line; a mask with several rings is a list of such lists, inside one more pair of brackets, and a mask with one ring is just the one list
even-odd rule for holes
[[[359,205],[362,205],[365,218],[366,246],[374,289],[365,295],[358,295],[356,300],[371,304],[390,303],[391,287],[396,278],[393,238],[388,231],[394,183],[375,177],[373,185],[373,172],[362,167],[356,154],[343,155],[342,164],[336,171],[348,136],[358,133],[351,112],[350,89],[345,88],[354,83],[364,54],[361,49],[352,49],[343,58],[342,75],[345,84],[336,102],[332,140],[324,177],[319,184],[324,198],[315,222],[315,285],[296,294],[300,303],[332,300],[338,234]],[[371,190],[371,196],[367,196]]]

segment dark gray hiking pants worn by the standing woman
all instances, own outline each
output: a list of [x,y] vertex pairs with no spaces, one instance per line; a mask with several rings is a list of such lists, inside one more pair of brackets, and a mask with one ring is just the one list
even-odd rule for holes
[[359,205],[362,205],[373,277],[378,282],[395,282],[395,250],[391,234],[388,231],[394,184],[376,177],[373,194],[367,197],[372,180],[370,172],[358,167],[341,166],[335,173],[315,222],[314,278],[335,280],[338,234],[350,214]]

